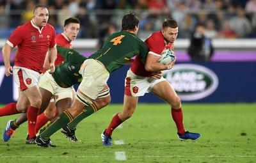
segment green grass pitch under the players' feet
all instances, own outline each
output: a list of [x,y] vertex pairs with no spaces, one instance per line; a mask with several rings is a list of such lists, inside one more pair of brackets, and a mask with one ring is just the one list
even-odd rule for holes
[[[177,139],[167,104],[139,104],[113,132],[113,146],[102,146],[101,132],[121,109],[111,104],[84,119],[76,143],[59,130],[51,136],[56,148],[25,144],[24,123],[8,143],[1,139],[0,162],[256,162],[256,104],[183,104],[186,130],[202,134],[196,141]],[[1,135],[16,117],[0,117]]]

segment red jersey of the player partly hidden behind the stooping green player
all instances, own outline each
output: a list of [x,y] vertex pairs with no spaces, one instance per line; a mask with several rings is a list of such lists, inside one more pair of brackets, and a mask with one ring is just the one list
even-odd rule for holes
[[[56,43],[57,45],[63,46],[63,47],[67,47],[67,48],[72,48],[72,44],[71,41],[68,40],[68,38],[63,35],[63,33],[56,35]],[[63,58],[63,56],[61,56],[59,53],[57,54],[57,58],[55,60],[55,66],[60,65],[65,58]]]

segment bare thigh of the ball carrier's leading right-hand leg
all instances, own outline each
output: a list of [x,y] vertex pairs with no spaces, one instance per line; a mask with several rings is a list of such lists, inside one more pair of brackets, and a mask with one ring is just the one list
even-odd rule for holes
[[168,102],[168,104],[172,105],[173,107],[179,107],[180,98],[178,97],[177,93],[175,92],[172,85],[168,81],[164,80],[164,81],[158,82],[153,86],[151,91],[157,97]]

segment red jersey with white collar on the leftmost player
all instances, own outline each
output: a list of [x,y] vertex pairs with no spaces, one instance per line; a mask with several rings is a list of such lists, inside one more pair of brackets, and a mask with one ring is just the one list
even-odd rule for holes
[[17,27],[6,42],[18,47],[14,65],[41,73],[48,49],[56,46],[55,35],[50,24],[39,29],[30,21]]

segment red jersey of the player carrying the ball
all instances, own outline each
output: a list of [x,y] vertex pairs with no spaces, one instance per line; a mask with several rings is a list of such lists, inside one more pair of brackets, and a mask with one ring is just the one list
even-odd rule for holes
[[[163,51],[164,47],[166,46],[166,42],[164,41],[164,37],[161,33],[161,31],[157,31],[155,33],[152,33],[147,40],[145,40],[145,43],[147,44],[147,47],[149,49],[148,54],[149,55],[156,55],[161,56],[161,52]],[[131,70],[134,74],[142,76],[142,77],[151,77],[152,72],[147,72],[145,70],[145,64],[141,60],[140,56],[136,56],[134,59]]]

